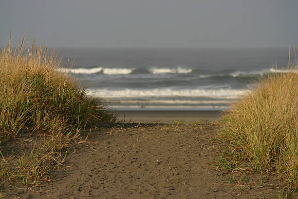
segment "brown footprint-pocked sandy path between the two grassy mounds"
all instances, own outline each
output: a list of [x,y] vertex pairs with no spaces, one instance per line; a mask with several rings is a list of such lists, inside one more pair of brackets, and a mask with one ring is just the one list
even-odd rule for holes
[[[178,113],[178,112],[175,112]],[[126,112],[127,114],[127,112]],[[143,116],[142,116],[143,114]],[[127,114],[147,122],[178,120],[154,113]],[[218,116],[213,115],[216,118]],[[246,171],[218,171],[216,161],[226,146],[216,138],[215,123],[109,123],[99,125],[87,143],[77,144],[50,182],[21,187],[5,182],[8,199],[238,199],[273,198],[274,177]],[[86,136],[86,135],[85,135]],[[241,179],[241,180],[240,180]],[[259,181],[261,180],[261,183]],[[256,183],[257,182],[257,183]]]

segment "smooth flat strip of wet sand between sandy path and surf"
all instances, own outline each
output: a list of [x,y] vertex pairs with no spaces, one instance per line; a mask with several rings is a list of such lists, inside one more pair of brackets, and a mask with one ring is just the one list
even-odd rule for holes
[[176,110],[134,110],[115,111],[118,121],[136,123],[172,123],[173,121],[186,120],[218,120],[223,115],[222,111],[176,111]]

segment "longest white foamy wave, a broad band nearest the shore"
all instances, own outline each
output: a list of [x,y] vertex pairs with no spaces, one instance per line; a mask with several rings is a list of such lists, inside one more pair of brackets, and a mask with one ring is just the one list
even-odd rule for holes
[[96,89],[90,90],[89,93],[103,98],[142,98],[142,97],[206,97],[235,99],[244,94],[244,89],[123,89],[108,90]]

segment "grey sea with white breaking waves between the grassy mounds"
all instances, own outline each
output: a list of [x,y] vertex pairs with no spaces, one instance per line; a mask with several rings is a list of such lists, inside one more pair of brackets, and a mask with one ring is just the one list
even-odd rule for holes
[[287,48],[58,48],[63,66],[111,110],[228,110]]

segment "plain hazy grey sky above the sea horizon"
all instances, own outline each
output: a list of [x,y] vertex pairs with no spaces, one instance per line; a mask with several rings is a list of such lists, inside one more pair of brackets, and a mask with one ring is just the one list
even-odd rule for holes
[[0,42],[50,47],[298,45],[298,0],[1,0]]

